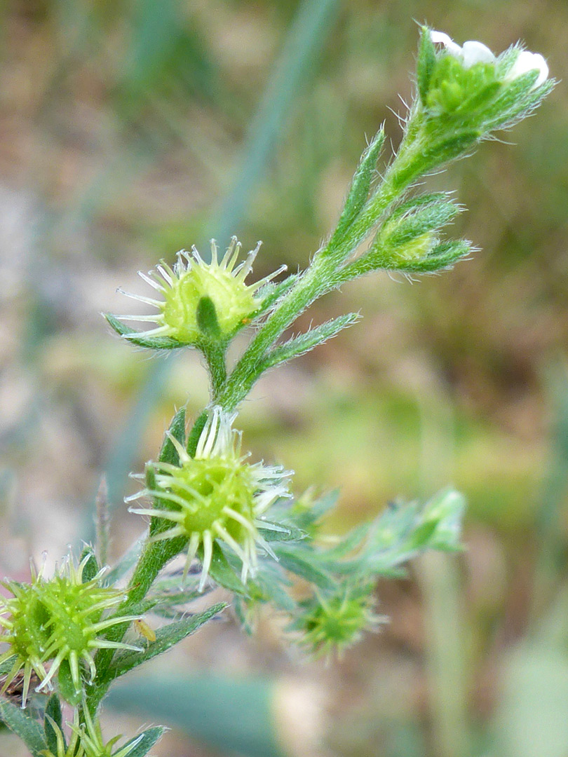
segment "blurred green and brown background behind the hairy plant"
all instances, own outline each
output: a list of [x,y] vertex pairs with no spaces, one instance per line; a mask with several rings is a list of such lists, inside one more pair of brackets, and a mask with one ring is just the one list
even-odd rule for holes
[[170,659],[183,681],[154,668],[139,712],[129,691],[115,702],[135,729],[167,722],[166,681],[170,724],[192,740],[178,731],[162,755],[568,755],[568,3],[0,5],[0,570],[14,578],[30,553],[89,538],[104,471],[114,554],[130,544],[126,474],[173,405],[207,401],[195,355],[150,360],[108,333],[99,312],[130,310],[117,285],[145,294],[137,269],[211,235],[262,239],[259,278],[305,266],[365,136],[385,121],[398,144],[424,20],[494,51],[523,39],[560,84],[429,179],[467,205],[454,232],[474,259],[318,302],[300,326],[364,322],[264,378],[239,424],[298,493],[341,488],[338,531],[454,484],[467,550],[380,585],[390,625],[328,668],[270,614],[252,639],[226,621],[189,640]]

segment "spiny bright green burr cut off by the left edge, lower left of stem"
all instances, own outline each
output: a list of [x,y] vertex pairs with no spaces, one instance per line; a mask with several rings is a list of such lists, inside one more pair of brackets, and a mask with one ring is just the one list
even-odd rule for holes
[[[68,557],[49,580],[44,579],[42,566],[39,572],[32,568],[30,584],[16,581],[2,584],[13,596],[0,599],[0,626],[5,629],[0,641],[8,643],[8,651],[0,656],[0,664],[14,658],[14,665],[0,693],[4,693],[23,670],[24,705],[33,673],[40,681],[37,690],[51,687],[55,674],[59,674],[62,693],[73,699],[73,692],[78,696],[82,691],[83,665],[89,681],[95,678],[97,650],[139,650],[101,638],[109,628],[130,623],[138,615],[103,617],[120,603],[123,592],[101,585],[104,570],[91,580],[83,581],[90,556],[89,553],[79,565]],[[51,667],[47,671],[48,663]]]

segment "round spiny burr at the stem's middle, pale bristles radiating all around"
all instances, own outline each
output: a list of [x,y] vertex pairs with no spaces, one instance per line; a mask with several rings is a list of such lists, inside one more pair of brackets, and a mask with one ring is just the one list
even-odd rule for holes
[[268,528],[262,520],[264,513],[280,497],[289,496],[286,479],[290,472],[279,466],[247,463],[247,456],[241,455],[241,435],[232,428],[235,417],[214,407],[194,457],[170,435],[179,466],[151,463],[155,484],[127,498],[154,497],[155,507],[132,512],[172,524],[152,539],[189,540],[186,573],[201,550],[200,591],[208,577],[215,542],[229,547],[240,559],[243,583],[256,573],[259,547],[274,557],[258,528]]

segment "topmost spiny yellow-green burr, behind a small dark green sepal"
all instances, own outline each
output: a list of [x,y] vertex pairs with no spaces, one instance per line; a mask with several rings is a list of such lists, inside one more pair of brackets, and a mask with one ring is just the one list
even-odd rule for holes
[[140,294],[119,290],[127,297],[158,310],[158,313],[148,316],[120,316],[121,320],[154,323],[153,328],[126,334],[126,338],[136,340],[167,337],[179,342],[180,346],[198,344],[204,336],[199,315],[204,303],[213,310],[211,317],[215,321],[217,337],[226,340],[233,336],[261,309],[263,298],[259,296],[259,290],[286,269],[286,266],[281,266],[264,279],[251,285],[245,284],[260,247],[261,242],[258,242],[245,260],[236,265],[241,252],[237,238],[231,239],[226,254],[221,258],[217,244],[211,240],[211,263],[205,263],[193,247],[191,253],[180,251],[173,267],[162,261],[148,275],[140,271],[139,276],[158,291],[163,299],[142,297]]

